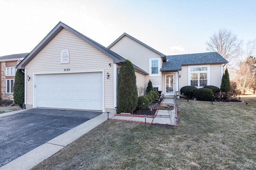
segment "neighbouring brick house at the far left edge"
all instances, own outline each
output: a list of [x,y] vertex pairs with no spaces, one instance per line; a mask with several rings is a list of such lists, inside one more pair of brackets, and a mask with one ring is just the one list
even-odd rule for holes
[[0,57],[1,63],[1,94],[2,100],[13,100],[14,78],[16,65],[26,57],[28,53],[13,54]]

